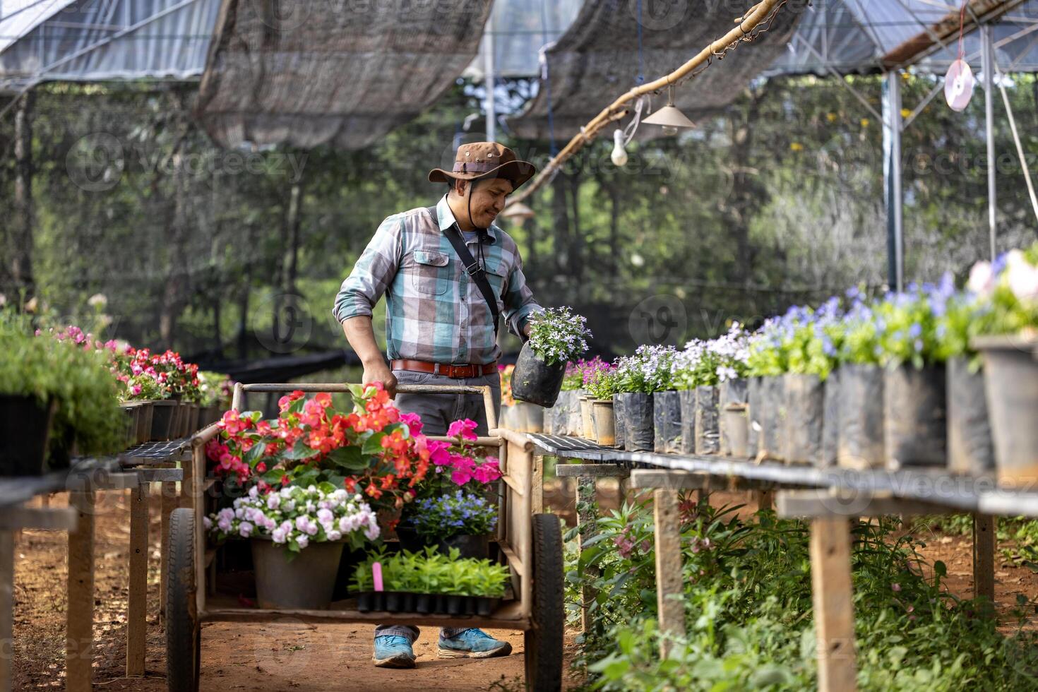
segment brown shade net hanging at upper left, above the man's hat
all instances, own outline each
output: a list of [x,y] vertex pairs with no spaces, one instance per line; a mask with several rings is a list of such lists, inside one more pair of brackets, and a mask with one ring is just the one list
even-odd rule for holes
[[490,6],[230,0],[195,115],[223,146],[363,148],[454,83],[479,49]]

